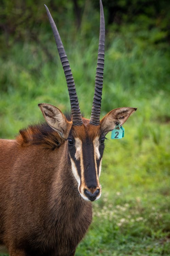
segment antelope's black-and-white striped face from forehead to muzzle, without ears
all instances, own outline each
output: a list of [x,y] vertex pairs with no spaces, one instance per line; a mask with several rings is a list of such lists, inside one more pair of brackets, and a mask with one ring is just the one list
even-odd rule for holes
[[101,196],[99,176],[104,151],[104,134],[100,126],[72,126],[68,135],[68,151],[78,190],[85,200]]

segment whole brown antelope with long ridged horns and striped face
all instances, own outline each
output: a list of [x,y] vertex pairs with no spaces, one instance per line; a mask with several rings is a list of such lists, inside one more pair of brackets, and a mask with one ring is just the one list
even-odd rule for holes
[[91,117],[82,117],[70,65],[53,18],[46,11],[64,69],[71,116],[38,104],[46,123],[0,140],[0,247],[10,256],[73,256],[101,196],[99,176],[105,136],[136,108],[117,108],[100,120],[105,24],[100,36]]

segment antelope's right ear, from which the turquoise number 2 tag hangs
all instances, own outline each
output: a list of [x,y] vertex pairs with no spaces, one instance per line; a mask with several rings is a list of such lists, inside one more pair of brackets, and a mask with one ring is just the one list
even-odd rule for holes
[[123,125],[128,117],[136,110],[137,108],[118,108],[107,113],[100,121],[100,126],[104,135],[109,131],[112,131],[117,122],[119,122],[120,125]]

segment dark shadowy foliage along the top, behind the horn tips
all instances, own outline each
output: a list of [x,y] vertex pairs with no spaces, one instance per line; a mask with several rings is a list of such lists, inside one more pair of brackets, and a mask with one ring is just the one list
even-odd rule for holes
[[[4,49],[5,46],[8,48],[16,41],[28,42],[30,40],[38,42],[40,47],[44,48],[39,38],[39,31],[51,33],[51,30],[43,3],[52,12],[57,27],[60,30],[64,28],[63,33],[69,34],[69,37],[74,38],[78,29],[81,35],[86,35],[86,38],[94,34],[98,35],[99,0],[46,0],[44,2],[41,0],[1,0],[1,48]],[[124,28],[124,25],[131,24],[128,27],[130,36],[133,36],[133,32],[137,32],[139,37],[155,44],[169,42],[169,1],[103,0],[103,6],[106,31],[110,37],[113,36],[113,31],[119,31],[122,27]],[[93,24],[92,30],[91,24]],[[44,40],[48,40],[48,36],[46,34]],[[44,50],[47,51],[47,49]]]

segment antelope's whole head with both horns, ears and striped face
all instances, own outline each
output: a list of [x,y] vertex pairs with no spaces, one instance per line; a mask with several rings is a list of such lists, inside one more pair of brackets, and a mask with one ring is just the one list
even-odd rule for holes
[[54,20],[47,8],[46,11],[53,30],[58,53],[64,69],[70,103],[72,120],[68,121],[62,111],[53,105],[38,104],[46,122],[66,140],[71,169],[78,182],[78,190],[83,199],[95,201],[101,196],[99,176],[105,136],[120,123],[123,125],[136,108],[118,108],[107,113],[100,120],[100,109],[103,87],[105,23],[102,1],[100,0],[100,37],[98,61],[95,80],[95,94],[90,119],[83,118],[75,89],[70,65]]

